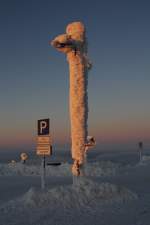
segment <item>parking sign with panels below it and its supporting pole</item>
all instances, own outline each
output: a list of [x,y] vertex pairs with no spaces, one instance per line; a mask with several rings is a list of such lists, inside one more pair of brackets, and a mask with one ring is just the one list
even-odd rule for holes
[[41,160],[41,189],[45,189],[45,156],[52,154],[51,139],[49,134],[49,119],[38,120],[38,137],[36,154],[42,156]]

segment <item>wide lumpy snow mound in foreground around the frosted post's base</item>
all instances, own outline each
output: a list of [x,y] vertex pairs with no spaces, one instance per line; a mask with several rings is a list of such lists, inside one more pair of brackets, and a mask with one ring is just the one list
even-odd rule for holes
[[74,185],[60,186],[46,191],[31,188],[21,198],[9,201],[0,207],[8,213],[12,210],[24,211],[41,207],[79,208],[100,204],[127,202],[137,199],[137,195],[125,187],[110,183],[96,183],[86,178],[76,178]]

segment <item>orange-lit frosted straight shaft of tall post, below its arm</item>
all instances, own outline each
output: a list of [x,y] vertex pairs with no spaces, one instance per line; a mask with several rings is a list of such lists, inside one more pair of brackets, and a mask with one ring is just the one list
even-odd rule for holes
[[[87,137],[86,77],[81,55],[68,54],[70,67],[70,119],[72,135],[72,157],[83,163]],[[77,72],[76,72],[77,71]]]

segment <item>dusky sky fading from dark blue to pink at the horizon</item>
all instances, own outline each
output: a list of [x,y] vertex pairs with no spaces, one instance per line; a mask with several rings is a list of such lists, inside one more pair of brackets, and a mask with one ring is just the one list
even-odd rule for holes
[[0,150],[34,148],[37,119],[70,142],[66,57],[49,46],[69,22],[87,29],[89,134],[99,146],[150,146],[150,3],[1,0]]

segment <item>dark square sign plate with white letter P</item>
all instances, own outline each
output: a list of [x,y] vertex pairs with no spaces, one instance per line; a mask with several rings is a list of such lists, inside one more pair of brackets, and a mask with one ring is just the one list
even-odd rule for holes
[[49,135],[49,119],[38,120],[38,135]]

